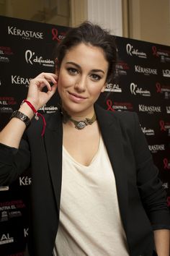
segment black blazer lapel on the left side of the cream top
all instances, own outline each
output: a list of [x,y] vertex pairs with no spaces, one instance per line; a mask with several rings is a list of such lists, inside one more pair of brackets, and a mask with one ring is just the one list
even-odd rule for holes
[[58,213],[61,200],[62,145],[63,126],[61,114],[57,112],[56,114],[51,114],[47,121],[47,127],[45,129],[45,148],[48,155],[48,165]]

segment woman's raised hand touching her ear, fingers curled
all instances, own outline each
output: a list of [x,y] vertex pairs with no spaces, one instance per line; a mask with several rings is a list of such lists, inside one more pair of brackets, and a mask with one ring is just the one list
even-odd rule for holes
[[[27,101],[30,101],[36,110],[40,109],[54,95],[57,89],[58,76],[53,73],[41,73],[30,81],[27,94]],[[51,86],[50,83],[53,85]],[[47,92],[42,92],[43,88],[47,88]]]

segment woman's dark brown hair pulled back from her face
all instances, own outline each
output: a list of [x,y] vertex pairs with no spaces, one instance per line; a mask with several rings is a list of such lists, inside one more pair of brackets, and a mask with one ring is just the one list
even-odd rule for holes
[[80,43],[90,44],[102,48],[105,58],[109,64],[107,72],[107,83],[112,83],[116,75],[117,47],[115,37],[108,30],[91,22],[83,22],[79,27],[68,30],[66,37],[58,44],[55,57],[57,57],[57,68],[60,69],[66,52]]

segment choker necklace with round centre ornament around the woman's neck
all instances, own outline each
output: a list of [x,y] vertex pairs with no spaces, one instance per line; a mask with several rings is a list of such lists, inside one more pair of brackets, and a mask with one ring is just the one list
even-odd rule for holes
[[70,120],[73,122],[74,127],[76,129],[84,129],[87,125],[89,125],[89,124],[91,125],[94,123],[94,121],[97,120],[97,116],[96,116],[95,112],[91,119],[86,118],[81,121],[76,121],[76,120],[72,119],[71,116],[69,116],[68,113],[66,112],[66,110],[64,110],[63,108],[61,108],[61,114],[63,115],[63,123],[66,124],[66,122],[68,120]]

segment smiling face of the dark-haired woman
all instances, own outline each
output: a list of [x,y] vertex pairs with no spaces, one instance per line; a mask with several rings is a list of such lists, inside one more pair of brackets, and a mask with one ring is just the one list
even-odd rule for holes
[[80,43],[66,52],[58,71],[58,93],[71,116],[93,114],[94,103],[105,88],[107,70],[102,48]]

